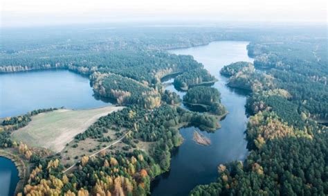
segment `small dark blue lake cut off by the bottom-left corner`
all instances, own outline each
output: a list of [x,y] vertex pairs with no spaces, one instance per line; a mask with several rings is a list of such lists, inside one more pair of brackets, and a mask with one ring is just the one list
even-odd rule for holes
[[19,181],[15,163],[5,157],[0,157],[0,195],[14,195]]

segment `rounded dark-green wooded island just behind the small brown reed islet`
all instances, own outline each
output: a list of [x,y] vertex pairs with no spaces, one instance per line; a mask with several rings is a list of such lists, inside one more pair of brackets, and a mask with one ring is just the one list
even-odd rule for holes
[[221,104],[221,96],[217,89],[212,87],[193,87],[183,96],[183,103],[190,107],[201,107],[205,112],[217,116],[225,116],[227,111]]

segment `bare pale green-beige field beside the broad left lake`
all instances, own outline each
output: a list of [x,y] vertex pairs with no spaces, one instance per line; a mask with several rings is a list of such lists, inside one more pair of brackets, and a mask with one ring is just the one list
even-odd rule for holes
[[64,149],[74,136],[84,132],[101,116],[116,112],[123,107],[100,107],[97,109],[59,109],[33,116],[32,121],[12,133],[15,141],[29,146],[48,148],[54,152]]

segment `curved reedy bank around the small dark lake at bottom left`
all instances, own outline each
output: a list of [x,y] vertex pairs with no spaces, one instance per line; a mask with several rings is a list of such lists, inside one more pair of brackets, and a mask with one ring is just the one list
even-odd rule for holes
[[22,193],[24,190],[24,184],[28,181],[29,174],[29,168],[26,166],[26,163],[19,158],[18,155],[7,152],[6,150],[0,150],[0,157],[10,159],[15,164],[19,177],[19,182],[15,189],[15,195],[17,195],[17,193]]

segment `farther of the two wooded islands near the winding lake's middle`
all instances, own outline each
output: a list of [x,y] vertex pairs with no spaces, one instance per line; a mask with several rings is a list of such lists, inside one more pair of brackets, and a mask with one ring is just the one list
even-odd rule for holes
[[210,85],[215,82],[217,82],[217,79],[210,75],[206,69],[195,69],[177,76],[174,79],[174,87],[187,91],[192,87]]

